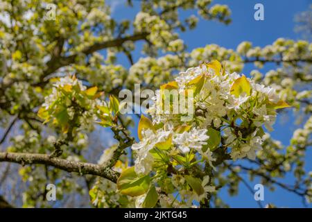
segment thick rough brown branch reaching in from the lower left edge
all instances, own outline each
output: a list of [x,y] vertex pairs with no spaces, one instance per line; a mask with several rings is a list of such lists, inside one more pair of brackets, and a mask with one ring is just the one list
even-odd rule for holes
[[98,164],[92,164],[87,162],[74,162],[69,160],[63,160],[57,157],[52,157],[46,154],[37,153],[0,153],[0,162],[15,162],[24,166],[25,164],[44,164],[46,166],[52,166],[58,169],[62,169],[67,172],[76,172],[81,175],[94,175],[101,176],[112,182],[116,182],[119,177],[119,173],[113,171],[110,168],[100,166]]

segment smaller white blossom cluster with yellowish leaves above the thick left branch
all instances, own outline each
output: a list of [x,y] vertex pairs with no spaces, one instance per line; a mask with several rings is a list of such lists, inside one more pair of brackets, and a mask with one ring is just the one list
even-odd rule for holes
[[53,84],[52,92],[38,111],[45,122],[53,121],[64,133],[70,126],[90,129],[90,122],[96,121],[97,87],[87,89],[75,76],[60,78]]

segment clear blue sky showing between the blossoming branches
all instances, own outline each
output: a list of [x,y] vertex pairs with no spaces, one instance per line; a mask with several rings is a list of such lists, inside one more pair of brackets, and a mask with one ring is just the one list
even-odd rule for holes
[[[114,6],[113,17],[117,19],[135,17],[136,12],[139,10],[139,1],[134,2],[134,8],[125,9],[123,5],[124,1],[110,1]],[[266,46],[267,44],[272,44],[272,42],[279,37],[299,40],[300,35],[293,31],[295,27],[294,16],[297,12],[307,10],[311,1],[215,0],[213,3],[227,4],[229,6],[232,10],[232,24],[226,26],[220,24],[220,22],[200,20],[195,30],[180,33],[180,37],[188,46],[188,51],[205,46],[206,44],[218,44],[229,49],[236,49],[236,46],[243,41],[250,41],[254,46]],[[264,6],[264,21],[254,20],[254,5],[256,3],[262,3]],[[195,11],[182,11],[182,17],[187,17],[187,15],[191,15],[194,12]],[[137,50],[134,58],[137,60],[140,57],[141,54],[139,50]],[[119,57],[119,62],[128,65],[127,60],[122,56]],[[253,65],[245,66],[243,72],[248,75],[253,68]],[[274,68],[274,65],[266,65],[263,69],[260,69],[260,71],[266,73],[266,71]],[[288,112],[288,114],[279,117],[275,124],[275,131],[271,134],[272,137],[288,145],[293,131],[300,127],[293,123],[293,119],[295,119],[295,117],[292,112]],[[306,153],[306,159],[308,160],[308,157],[311,159],[311,155],[312,152],[310,149],[310,151]],[[312,170],[311,162],[307,163],[306,170]],[[287,176],[287,178],[282,181],[291,184],[293,177]],[[255,184],[257,184],[257,180],[250,182],[251,187],[254,187]],[[250,191],[248,191],[243,184],[240,186],[238,196],[229,197],[226,189],[221,191],[221,196],[225,200],[225,203],[228,203],[231,207],[258,207],[253,195],[250,194]],[[263,205],[273,203],[280,207],[304,207],[301,198],[280,188],[277,188],[274,192],[265,188],[264,199],[264,201],[261,201]],[[312,205],[309,205],[309,207],[312,207]]]

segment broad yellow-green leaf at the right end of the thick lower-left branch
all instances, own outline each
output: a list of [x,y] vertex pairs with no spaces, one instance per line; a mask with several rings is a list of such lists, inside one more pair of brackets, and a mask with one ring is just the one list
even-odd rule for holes
[[117,180],[117,189],[121,194],[129,196],[140,196],[145,194],[150,187],[150,177],[138,176],[135,167],[125,169]]

